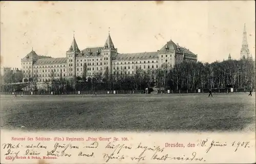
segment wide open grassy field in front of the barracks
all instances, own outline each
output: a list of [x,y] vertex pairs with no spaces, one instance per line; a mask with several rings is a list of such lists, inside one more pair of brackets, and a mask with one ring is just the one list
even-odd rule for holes
[[255,95],[2,97],[1,127],[54,131],[255,131]]

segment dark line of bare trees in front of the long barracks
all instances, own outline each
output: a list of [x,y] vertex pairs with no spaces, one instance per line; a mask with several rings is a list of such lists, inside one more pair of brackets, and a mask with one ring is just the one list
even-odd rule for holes
[[[255,62],[251,59],[226,60],[222,62],[187,62],[169,67],[163,64],[157,69],[137,69],[134,75],[115,70],[113,74],[106,68],[103,76],[86,78],[87,66],[84,64],[82,77],[75,80],[62,78],[46,82],[46,90],[144,90],[155,87],[159,90],[195,90],[213,88],[255,88]],[[32,83],[35,80],[31,80]],[[37,84],[31,84],[38,90]]]

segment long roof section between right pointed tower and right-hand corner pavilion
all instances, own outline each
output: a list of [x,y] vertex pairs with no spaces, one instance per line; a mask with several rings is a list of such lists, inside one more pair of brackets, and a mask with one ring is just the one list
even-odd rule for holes
[[117,54],[114,60],[145,60],[157,59],[157,52],[131,53],[131,54]]

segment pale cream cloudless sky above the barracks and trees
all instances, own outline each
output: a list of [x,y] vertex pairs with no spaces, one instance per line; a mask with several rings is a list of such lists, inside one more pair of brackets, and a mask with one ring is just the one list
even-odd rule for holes
[[31,52],[66,57],[75,35],[80,50],[153,52],[172,39],[202,62],[240,58],[244,24],[255,59],[254,1],[1,2],[1,66],[21,67]]

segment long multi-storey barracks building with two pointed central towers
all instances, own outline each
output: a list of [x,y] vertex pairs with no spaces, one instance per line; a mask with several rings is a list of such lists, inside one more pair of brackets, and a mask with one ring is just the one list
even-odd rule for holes
[[197,55],[172,40],[156,52],[120,54],[110,34],[104,46],[80,50],[73,37],[64,58],[40,56],[31,51],[22,61],[23,82],[49,82],[52,79],[93,78],[107,75],[134,75],[139,69],[155,74],[157,68],[172,68],[182,61],[197,61]]

